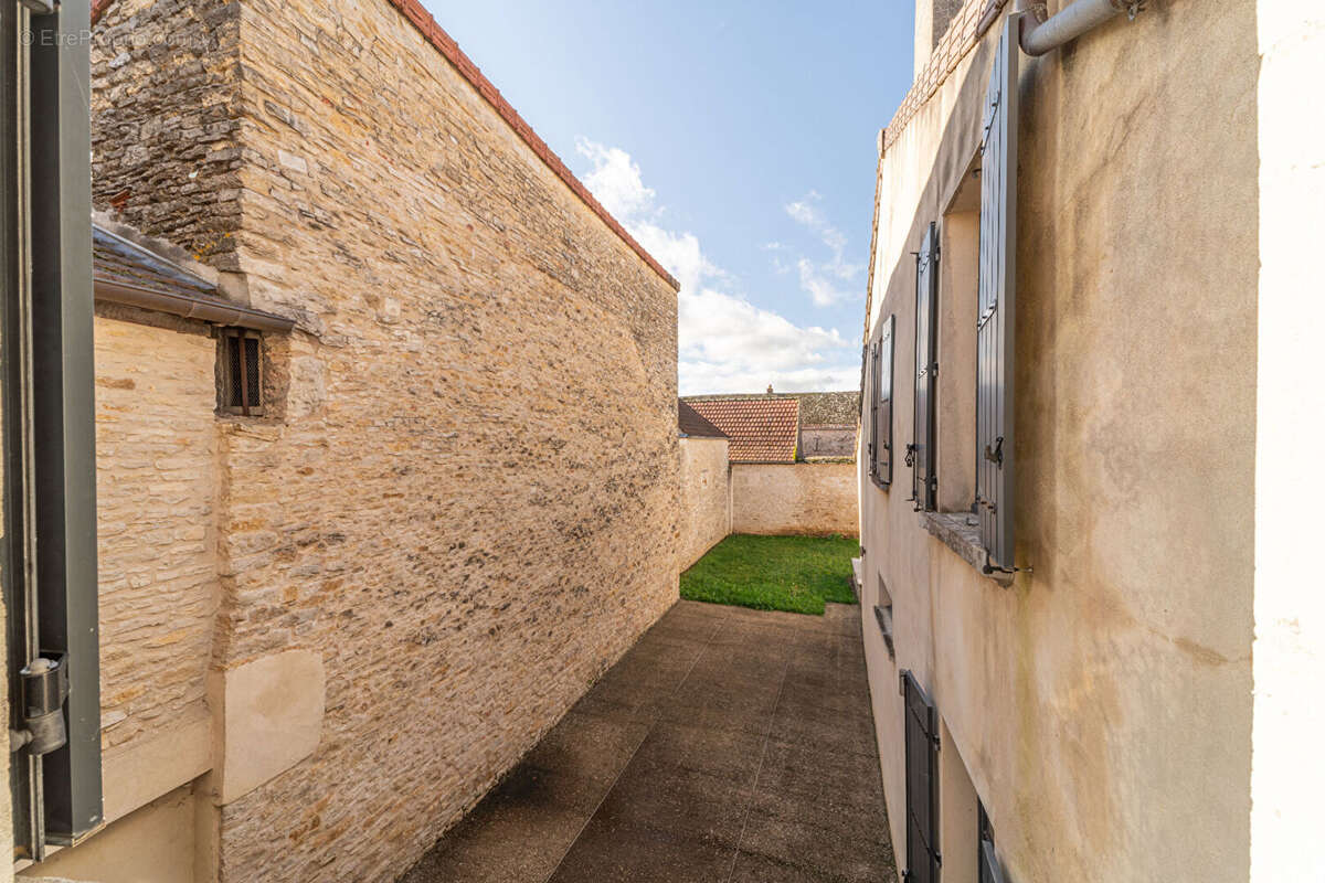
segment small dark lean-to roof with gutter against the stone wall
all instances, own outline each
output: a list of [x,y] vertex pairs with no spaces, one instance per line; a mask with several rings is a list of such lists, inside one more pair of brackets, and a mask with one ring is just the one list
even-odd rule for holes
[[91,277],[97,301],[244,328],[294,327],[293,319],[228,301],[200,273],[97,222],[91,225]]

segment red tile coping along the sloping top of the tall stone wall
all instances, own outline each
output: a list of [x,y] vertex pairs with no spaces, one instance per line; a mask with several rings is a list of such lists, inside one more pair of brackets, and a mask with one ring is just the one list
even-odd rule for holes
[[[681,283],[676,281],[676,277],[664,270],[662,265],[659,263],[657,259],[649,254],[633,236],[627,233],[625,228],[621,226],[615,217],[612,217],[612,213],[603,208],[602,203],[594,199],[594,195],[588,192],[588,188],[584,187],[578,177],[575,177],[575,173],[566,167],[566,163],[563,163],[556,154],[553,152],[553,148],[547,146],[547,142],[539,138],[530,124],[525,122],[525,118],[521,116],[514,107],[511,107],[510,102],[502,97],[496,86],[493,86],[492,81],[488,79],[488,77],[478,70],[478,66],[469,60],[469,56],[460,50],[460,46],[450,38],[450,34],[441,29],[437,20],[423,8],[423,4],[419,3],[419,0],[387,1],[395,7],[400,15],[409,20],[409,24],[412,24],[415,29],[423,34],[423,38],[432,44],[432,46],[450,62],[450,66],[454,68],[456,71],[464,77],[480,95],[482,95],[484,101],[492,105],[493,110],[497,111],[497,115],[501,116],[506,124],[511,127],[511,130],[514,130],[515,135],[518,135],[522,142],[529,144],[530,150],[534,151],[534,155],[538,156],[538,159],[542,160],[542,163],[547,165],[547,168],[550,168],[556,177],[562,179],[562,181],[571,188],[571,192],[575,193],[575,196],[579,197],[579,200],[584,203],[591,212],[598,214],[604,224],[607,224],[608,229],[611,229],[623,242],[639,254],[655,273],[662,277],[662,281],[670,285],[673,291],[681,290]],[[101,21],[101,17],[106,15],[106,11],[113,3],[114,0],[93,0],[93,25]]]

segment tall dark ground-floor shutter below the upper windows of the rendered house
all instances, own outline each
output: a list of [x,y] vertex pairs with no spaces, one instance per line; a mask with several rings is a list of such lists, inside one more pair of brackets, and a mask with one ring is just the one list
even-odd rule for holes
[[908,883],[938,882],[938,711],[909,670],[901,673],[906,714]]

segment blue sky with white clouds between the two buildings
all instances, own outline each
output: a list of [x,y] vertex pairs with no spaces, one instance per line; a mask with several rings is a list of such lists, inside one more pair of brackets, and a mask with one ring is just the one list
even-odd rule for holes
[[682,283],[682,395],[851,389],[906,0],[424,0]]

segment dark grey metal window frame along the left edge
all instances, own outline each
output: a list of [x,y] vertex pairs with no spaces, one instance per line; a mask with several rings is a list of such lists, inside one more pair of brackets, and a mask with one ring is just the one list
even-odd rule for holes
[[[87,0],[34,13],[0,0],[4,179],[4,601],[15,858],[41,860],[99,829],[91,173]],[[44,751],[20,669],[58,661]],[[28,741],[25,741],[28,740]],[[48,745],[60,744],[58,741]]]

